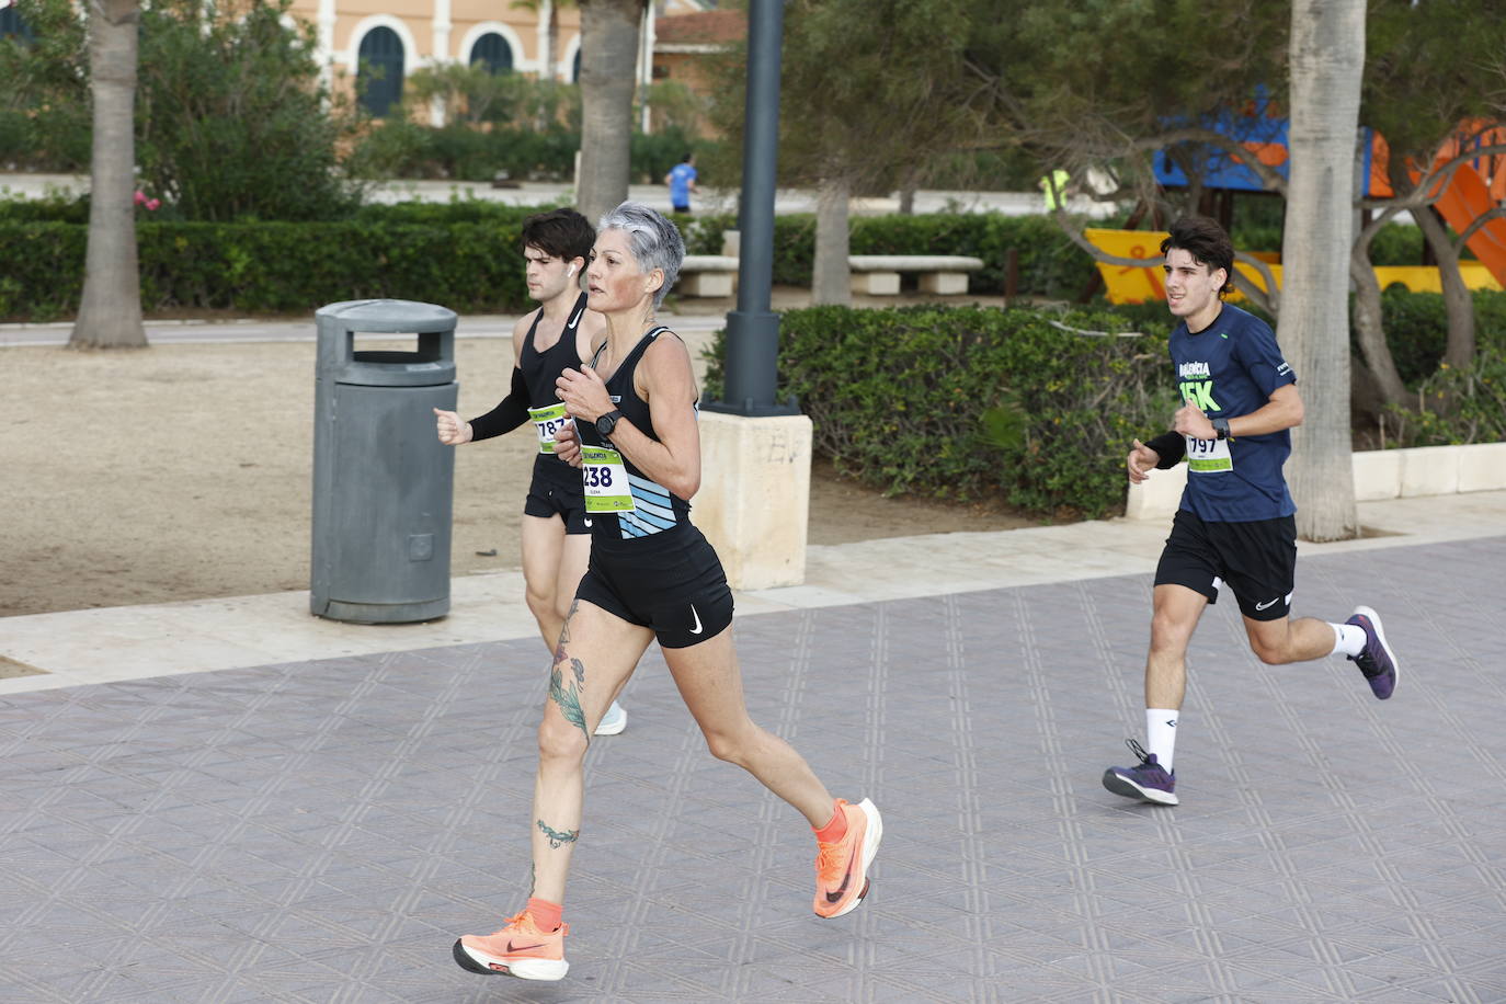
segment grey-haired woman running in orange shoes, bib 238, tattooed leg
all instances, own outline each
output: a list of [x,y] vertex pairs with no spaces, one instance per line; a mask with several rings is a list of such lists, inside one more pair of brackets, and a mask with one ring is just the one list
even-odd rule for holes
[[655,638],[711,754],[748,771],[815,831],[816,915],[842,917],[869,891],[884,829],[878,810],[866,798],[833,799],[788,742],[748,718],[732,590],[690,522],[688,500],[700,486],[696,379],[685,343],[654,324],[684,254],[673,223],[622,203],[602,220],[587,268],[587,303],[605,318],[607,337],[590,364],[560,376],[560,400],[575,421],[559,447],[583,471],[590,567],[560,631],[539,724],[527,905],[500,930],[455,942],[455,962],[471,972],[559,980],[569,968],[562,915],[586,748]]

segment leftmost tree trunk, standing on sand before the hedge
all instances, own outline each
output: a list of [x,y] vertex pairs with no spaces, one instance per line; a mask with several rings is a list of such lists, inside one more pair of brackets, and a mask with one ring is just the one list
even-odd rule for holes
[[136,257],[137,0],[90,0],[93,154],[84,291],[69,348],[145,348]]

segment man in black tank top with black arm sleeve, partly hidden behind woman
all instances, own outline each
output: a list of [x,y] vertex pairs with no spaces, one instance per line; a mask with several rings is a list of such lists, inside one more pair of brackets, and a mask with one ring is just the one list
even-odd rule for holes
[[[529,610],[550,652],[590,554],[580,471],[554,456],[554,434],[569,421],[554,381],[589,358],[592,342],[601,339],[604,321],[586,309],[578,280],[595,239],[590,223],[574,209],[524,221],[529,297],[541,306],[512,328],[512,388],[495,408],[470,421],[461,421],[453,411],[434,409],[440,441],[450,446],[489,440],[524,423],[536,431],[539,452],[523,504],[523,578]],[[613,703],[596,735],[616,735],[626,721],[626,712]]]

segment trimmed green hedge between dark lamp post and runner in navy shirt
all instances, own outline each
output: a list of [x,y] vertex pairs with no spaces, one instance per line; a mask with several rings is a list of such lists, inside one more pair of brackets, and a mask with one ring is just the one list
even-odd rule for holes
[[[1166,336],[1108,313],[899,307],[794,310],[780,325],[780,397],[815,449],[886,492],[1001,498],[1074,518],[1123,506],[1123,458],[1166,427],[1175,387]],[[715,342],[708,397],[721,385]]]

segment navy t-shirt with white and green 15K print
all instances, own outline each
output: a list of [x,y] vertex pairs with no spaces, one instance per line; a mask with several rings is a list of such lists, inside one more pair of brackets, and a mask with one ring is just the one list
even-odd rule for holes
[[[1208,328],[1191,333],[1176,325],[1172,366],[1182,400],[1209,418],[1233,418],[1259,411],[1271,394],[1297,375],[1282,358],[1276,334],[1259,318],[1224,304]],[[1297,512],[1282,465],[1292,452],[1289,431],[1236,437],[1229,444],[1230,470],[1187,471],[1182,509],[1205,522],[1251,522]]]

